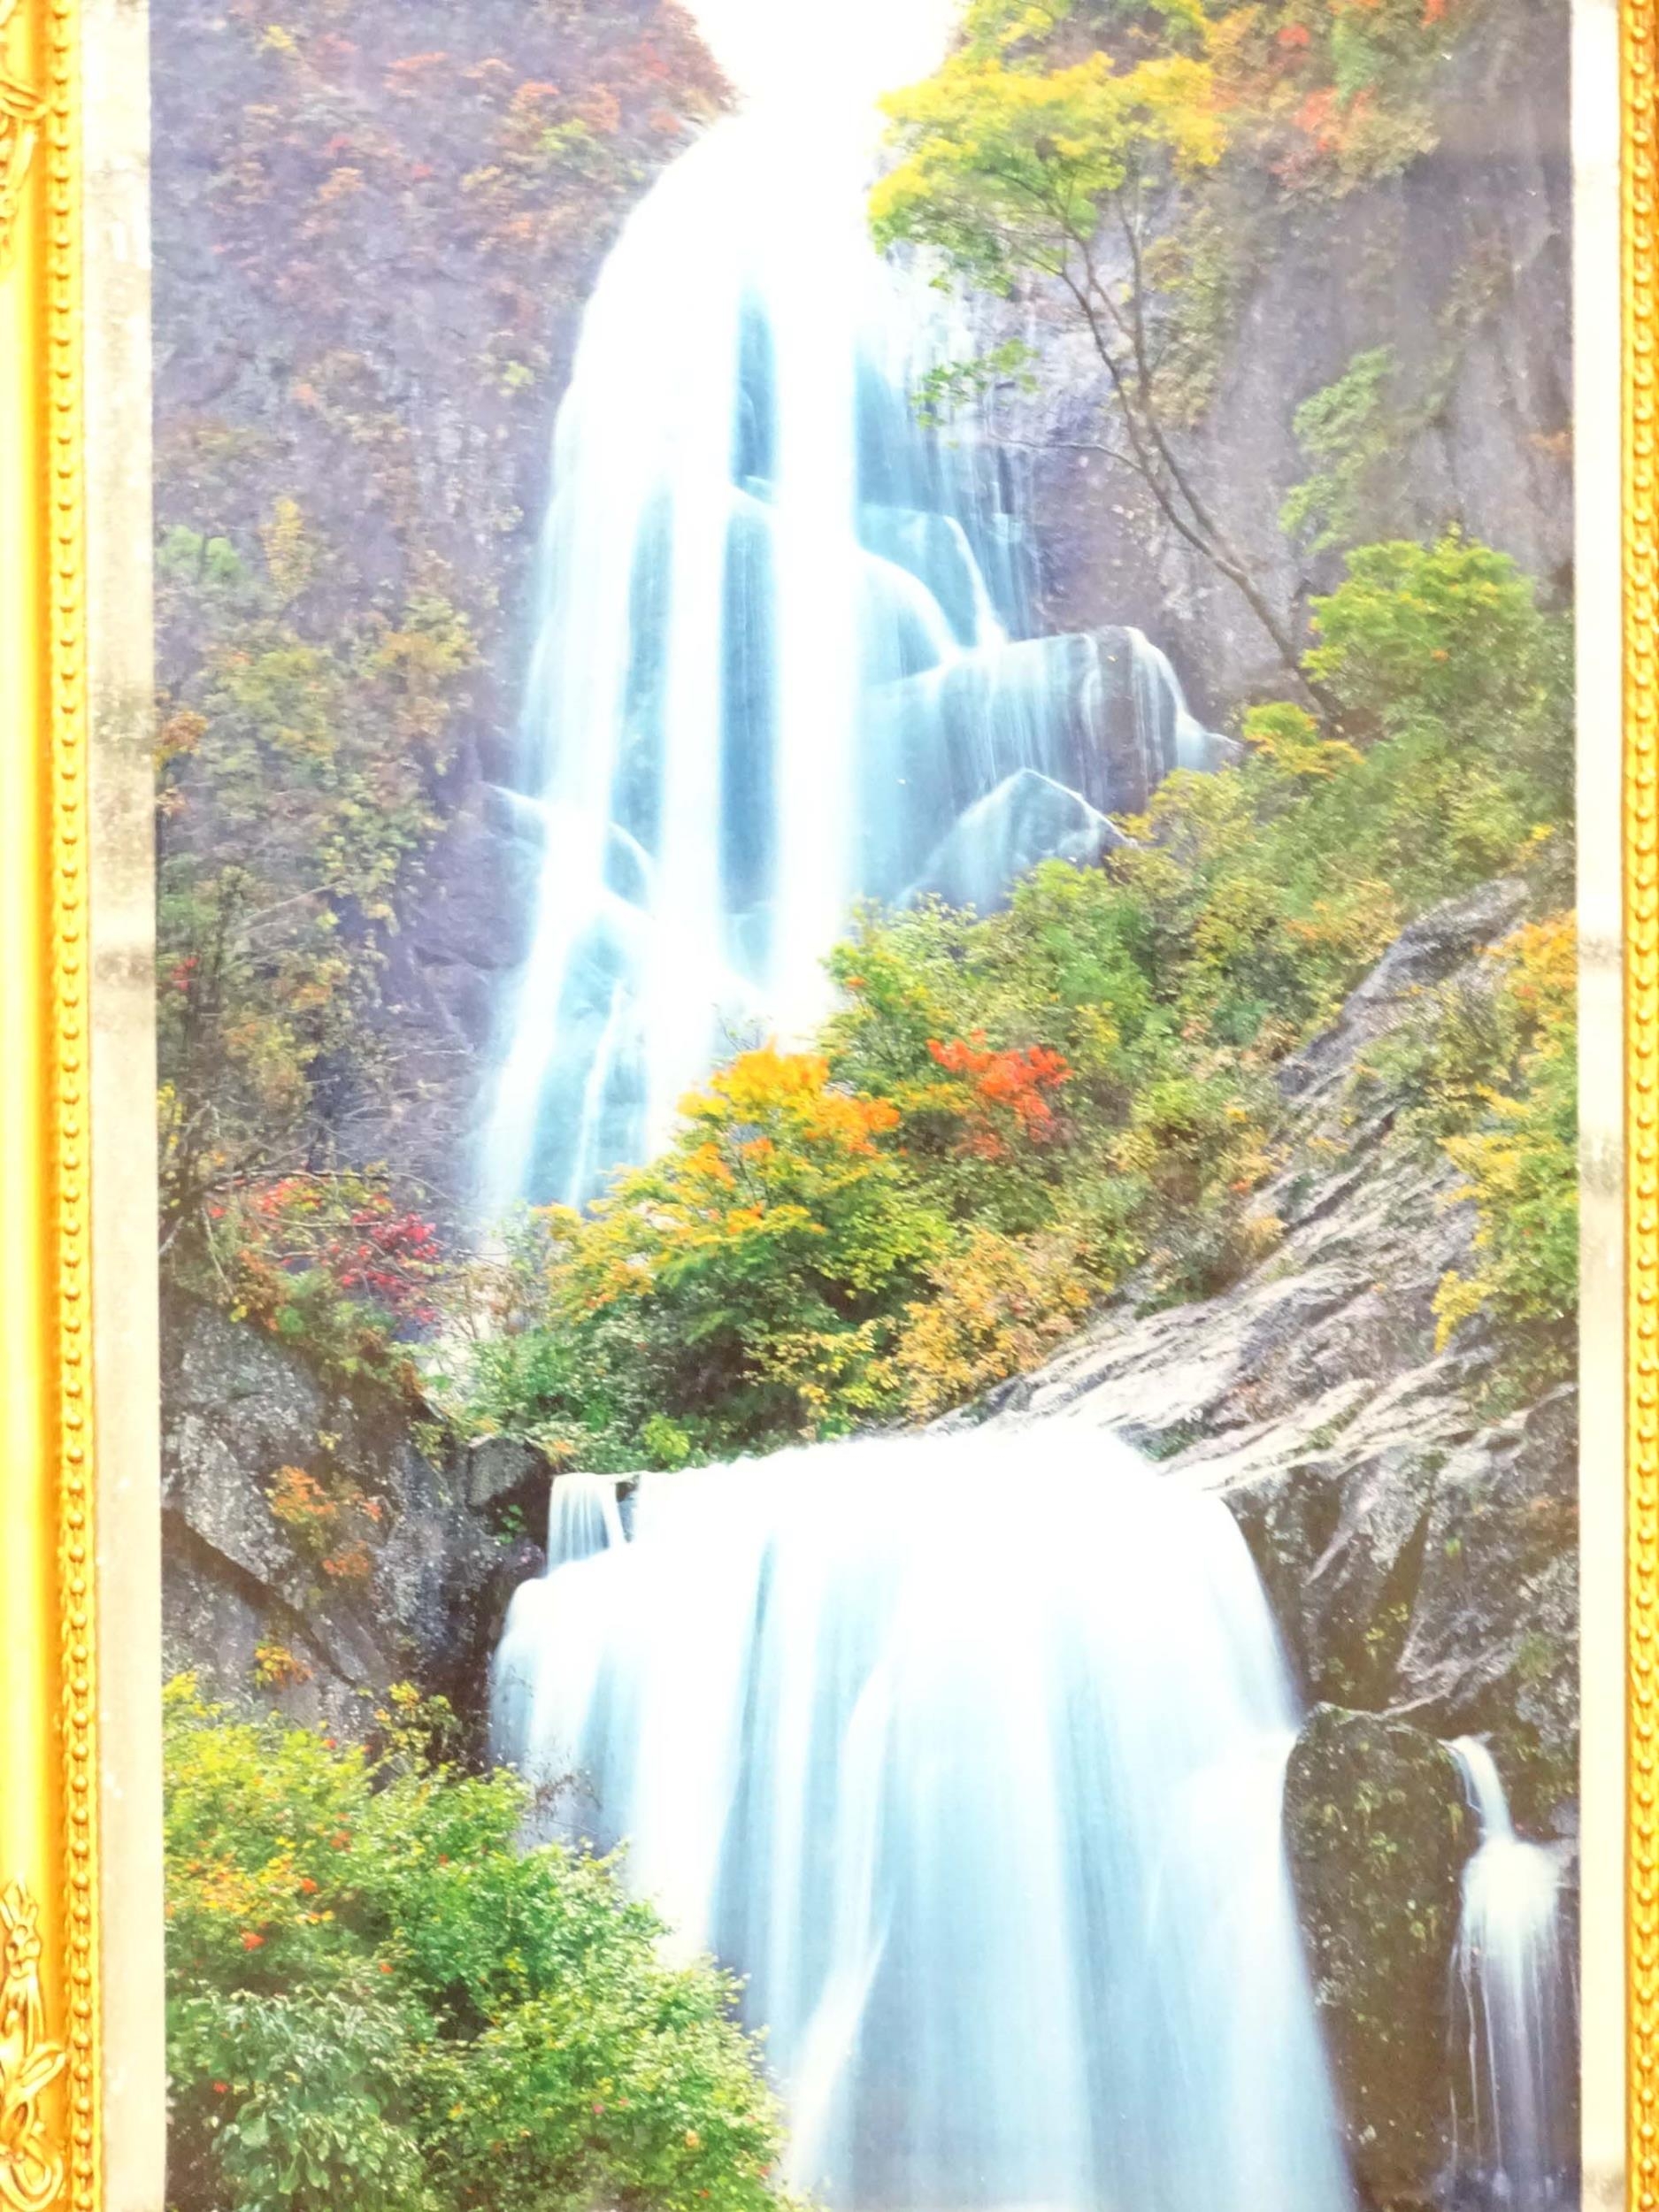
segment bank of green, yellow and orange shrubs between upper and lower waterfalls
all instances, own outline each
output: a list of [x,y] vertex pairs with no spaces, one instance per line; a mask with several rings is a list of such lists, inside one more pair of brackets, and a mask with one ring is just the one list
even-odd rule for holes
[[[1113,1290],[1208,1296],[1272,1250],[1274,1068],[1436,900],[1504,872],[1553,898],[1571,799],[1562,628],[1509,560],[1365,546],[1314,615],[1340,730],[1256,706],[1245,757],[1168,776],[1104,865],[1048,860],[1000,914],[860,914],[821,1053],[741,1055],[591,1219],[542,1219],[445,1383],[460,1418],[604,1469],[832,1436],[982,1391]],[[1478,1048],[1442,1024],[1400,1141],[1482,1141],[1447,1119]],[[1486,1121],[1491,1079],[1462,1077]],[[1467,1166],[1495,1192],[1495,1152]],[[1482,1285],[1447,1296],[1533,1327]]]

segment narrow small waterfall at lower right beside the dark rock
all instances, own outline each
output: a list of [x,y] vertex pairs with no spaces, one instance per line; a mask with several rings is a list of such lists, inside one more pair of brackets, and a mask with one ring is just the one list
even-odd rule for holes
[[1559,1927],[1559,1854],[1515,1834],[1498,1765],[1478,1736],[1451,1754],[1480,1823],[1462,1876],[1453,1962],[1458,2201],[1546,2212],[1575,2201],[1575,1991]]

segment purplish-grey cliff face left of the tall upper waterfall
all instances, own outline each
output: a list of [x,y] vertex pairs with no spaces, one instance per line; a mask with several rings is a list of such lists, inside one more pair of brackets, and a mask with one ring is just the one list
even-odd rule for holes
[[[316,635],[436,593],[478,646],[442,830],[385,931],[396,1095],[341,1115],[352,1157],[453,1217],[529,927],[487,792],[515,748],[553,416],[617,228],[728,93],[672,0],[157,0],[150,46],[164,573],[175,529],[257,566],[288,500],[321,555]],[[164,695],[199,650],[164,593]]]

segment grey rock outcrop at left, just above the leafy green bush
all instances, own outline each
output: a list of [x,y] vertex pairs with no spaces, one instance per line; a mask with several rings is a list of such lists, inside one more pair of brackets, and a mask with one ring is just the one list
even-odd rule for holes
[[168,1672],[343,1734],[418,1681],[476,1732],[507,1599],[542,1566],[535,1455],[467,1453],[204,1305],[168,1314],[161,1416]]

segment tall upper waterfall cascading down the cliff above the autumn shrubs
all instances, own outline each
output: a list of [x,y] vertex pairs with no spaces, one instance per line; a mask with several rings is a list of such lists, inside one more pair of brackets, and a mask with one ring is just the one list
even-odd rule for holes
[[633,212],[555,431],[491,1206],[588,1199],[734,1044],[807,1035],[858,898],[995,905],[1219,745],[1137,630],[1031,635],[1018,471],[918,422],[971,343],[869,243],[860,49],[768,100],[765,11],[708,4],[761,93]]

